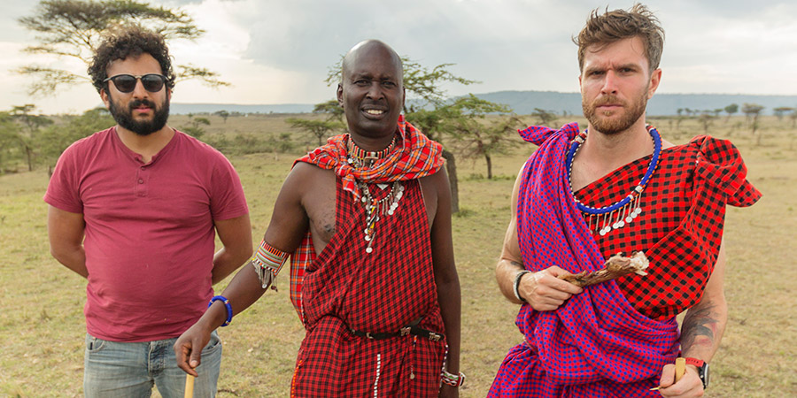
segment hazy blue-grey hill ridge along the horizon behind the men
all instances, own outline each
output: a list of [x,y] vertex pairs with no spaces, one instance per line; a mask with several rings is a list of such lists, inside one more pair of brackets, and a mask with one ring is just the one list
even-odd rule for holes
[[[529,114],[534,108],[554,111],[561,114],[567,111],[580,115],[581,95],[579,93],[560,93],[555,91],[497,91],[476,94],[479,98],[493,103],[505,103],[515,113]],[[781,106],[797,107],[797,96],[750,96],[744,94],[656,94],[647,104],[647,114],[651,116],[676,115],[678,109],[715,110],[731,103],[758,103],[763,105],[765,114],[772,114],[773,108]],[[308,113],[313,111],[312,103],[282,103],[273,105],[241,105],[235,103],[172,103],[174,114],[213,113],[228,111],[240,113]]]

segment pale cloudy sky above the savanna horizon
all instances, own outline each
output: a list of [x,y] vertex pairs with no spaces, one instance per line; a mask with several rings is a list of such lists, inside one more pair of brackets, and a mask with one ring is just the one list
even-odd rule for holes
[[[170,43],[177,64],[221,73],[228,88],[182,81],[178,103],[320,103],[333,98],[327,68],[357,42],[389,43],[422,65],[480,81],[446,86],[450,95],[499,90],[578,91],[577,34],[589,11],[632,0],[162,0],[205,29],[197,42]],[[58,95],[26,95],[28,78],[10,70],[41,62],[84,72],[73,61],[33,57],[17,19],[37,2],[0,0],[0,110],[36,103],[81,112],[100,104],[89,83]],[[400,7],[397,6],[400,4]],[[649,0],[666,31],[660,93],[797,95],[797,2]]]

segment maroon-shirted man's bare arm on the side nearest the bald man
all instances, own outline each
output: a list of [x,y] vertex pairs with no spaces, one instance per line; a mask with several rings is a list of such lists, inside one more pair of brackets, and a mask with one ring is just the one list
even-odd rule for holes
[[216,233],[224,247],[213,256],[213,284],[236,271],[251,256],[251,222],[249,214],[216,220]]

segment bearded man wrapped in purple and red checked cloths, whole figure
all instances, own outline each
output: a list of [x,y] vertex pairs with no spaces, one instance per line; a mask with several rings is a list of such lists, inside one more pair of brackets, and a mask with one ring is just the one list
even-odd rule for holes
[[[646,126],[663,36],[641,4],[592,11],[574,40],[587,129],[521,132],[539,148],[515,183],[496,278],[522,304],[525,339],[501,364],[491,397],[700,396],[708,387],[727,318],[725,205],[751,205],[760,193],[730,142],[673,145]],[[557,278],[639,250],[650,260],[646,276],[584,289]],[[675,382],[677,356],[687,365]]]

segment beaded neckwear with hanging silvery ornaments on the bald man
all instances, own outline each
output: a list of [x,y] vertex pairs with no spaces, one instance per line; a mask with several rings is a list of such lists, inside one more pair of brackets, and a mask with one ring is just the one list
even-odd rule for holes
[[[346,161],[349,165],[357,169],[370,167],[374,165],[376,160],[387,157],[395,146],[396,137],[393,137],[393,141],[387,148],[379,151],[367,151],[358,147],[350,136],[346,146],[346,149],[348,149]],[[366,164],[366,162],[368,162],[368,164]],[[388,184],[375,185],[380,189],[388,187]],[[371,253],[374,251],[372,246],[376,237],[376,222],[384,216],[392,216],[399,208],[399,201],[401,197],[404,196],[404,185],[402,185],[400,181],[394,181],[391,185],[390,192],[384,195],[382,199],[375,199],[374,195],[371,195],[368,184],[361,180],[357,180],[357,188],[360,188],[360,192],[362,193],[360,201],[366,210],[366,228],[363,230],[365,241],[368,242],[366,253]]]

